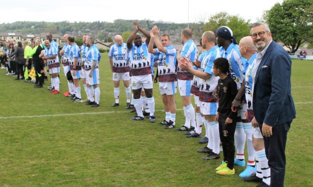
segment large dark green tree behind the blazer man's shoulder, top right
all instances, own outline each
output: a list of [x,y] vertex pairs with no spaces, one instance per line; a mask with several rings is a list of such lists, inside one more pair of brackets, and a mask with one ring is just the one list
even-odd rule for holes
[[305,41],[313,41],[313,0],[285,0],[264,15],[273,40],[283,42],[295,53]]

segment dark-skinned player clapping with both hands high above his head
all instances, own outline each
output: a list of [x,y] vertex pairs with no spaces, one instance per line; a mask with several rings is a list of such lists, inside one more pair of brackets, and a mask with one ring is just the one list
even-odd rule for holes
[[[150,122],[155,122],[155,115],[154,115],[154,97],[153,97],[153,81],[151,77],[151,57],[150,53],[148,53],[148,44],[150,42],[150,33],[145,29],[141,28],[138,22],[133,22],[135,25],[135,30],[130,34],[127,40],[127,48],[129,54],[129,65],[130,69],[130,76],[132,76],[132,90],[134,94],[134,106],[137,111],[137,115],[132,117],[132,120],[143,120],[144,116],[141,110],[141,89],[144,88],[146,96],[147,96],[147,103],[150,109]],[[146,37],[146,41],[142,43],[142,38],[140,34],[137,32],[142,32]],[[134,44],[132,43],[134,42]],[[139,67],[146,63],[146,67]]]

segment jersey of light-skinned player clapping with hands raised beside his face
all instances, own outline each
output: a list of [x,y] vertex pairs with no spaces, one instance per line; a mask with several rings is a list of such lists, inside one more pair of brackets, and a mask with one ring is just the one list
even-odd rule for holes
[[164,47],[166,52],[163,53],[158,49],[155,49],[155,56],[158,57],[158,78],[159,82],[173,82],[177,81],[176,75],[176,49],[170,45]]

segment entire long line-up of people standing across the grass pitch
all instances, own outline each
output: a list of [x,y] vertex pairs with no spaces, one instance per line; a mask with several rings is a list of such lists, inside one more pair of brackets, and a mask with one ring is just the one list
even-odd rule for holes
[[[239,175],[244,181],[258,182],[258,187],[284,186],[287,132],[296,111],[290,93],[291,61],[287,52],[272,40],[269,26],[252,24],[251,35],[242,38],[239,45],[227,26],[206,31],[202,35],[199,55],[189,28],[183,29],[183,47],[176,50],[168,34],[159,38],[157,26],[149,32],[138,22],[133,24],[134,31],[127,42],[116,35],[115,44],[110,47],[108,57],[115,97],[112,107],[119,106],[119,84],[123,80],[126,108],[136,112],[131,120],[144,120],[146,116],[150,122],[155,122],[152,91],[153,82],[159,81],[165,109],[165,119],[159,124],[163,124],[164,129],[172,129],[176,126],[174,95],[178,88],[184,105],[185,124],[175,131],[187,131],[187,137],[202,137],[204,124],[206,134],[199,143],[207,145],[197,152],[206,153],[203,159],[210,160],[219,159],[220,151],[223,151],[224,158],[216,168],[217,174],[234,175],[234,165],[246,166]],[[145,38],[138,34],[139,31]],[[68,80],[68,92],[64,96],[73,102],[82,102],[79,83],[82,79],[86,104],[98,107],[101,56],[95,38],[84,35],[84,44],[79,47],[73,36],[65,34],[65,45],[59,52],[61,60],[51,34],[46,36],[45,49],[39,39],[34,42],[29,56],[36,71],[35,87],[42,88],[45,63],[51,76],[50,92],[59,94],[61,61]],[[21,43],[7,58],[15,55],[17,61],[18,48]],[[29,56],[25,58],[26,66],[29,66]],[[154,66],[157,66],[156,72],[153,72]],[[18,68],[23,71],[20,66]],[[195,107],[191,102],[192,95]],[[244,156],[246,141],[247,164]],[[220,150],[220,142],[223,150]]]

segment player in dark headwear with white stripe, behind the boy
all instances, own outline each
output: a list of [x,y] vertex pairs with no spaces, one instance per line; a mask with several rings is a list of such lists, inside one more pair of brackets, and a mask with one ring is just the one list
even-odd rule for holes
[[[236,39],[234,37],[233,31],[227,27],[222,26],[216,31],[217,35],[217,43],[219,47],[222,47],[222,57],[226,58],[229,63],[229,75],[237,84],[237,89],[239,90],[243,80],[244,74],[246,71],[246,62],[247,60],[241,57],[239,46],[236,43]],[[245,166],[245,155],[244,148],[247,141],[248,147],[248,166],[244,173],[246,174],[255,174],[257,172],[255,168],[255,150],[253,148],[252,143],[252,124],[245,117],[245,111],[247,111],[247,103],[245,98],[235,98],[238,102],[241,102],[240,109],[238,111],[238,119],[236,124],[235,131],[235,142],[236,142],[236,159],[235,165],[237,166]],[[244,177],[250,177],[245,175]]]

